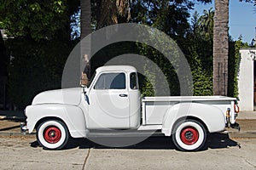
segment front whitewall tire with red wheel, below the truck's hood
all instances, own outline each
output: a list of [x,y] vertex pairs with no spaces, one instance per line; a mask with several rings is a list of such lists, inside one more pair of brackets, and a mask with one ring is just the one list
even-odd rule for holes
[[60,150],[67,144],[68,136],[65,123],[57,120],[42,122],[37,129],[38,143],[47,150]]

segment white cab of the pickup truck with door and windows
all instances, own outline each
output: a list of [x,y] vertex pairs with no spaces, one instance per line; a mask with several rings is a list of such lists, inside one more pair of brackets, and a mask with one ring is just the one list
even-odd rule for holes
[[[104,66],[82,94],[88,129],[129,129],[140,126],[141,94],[132,66]],[[101,117],[101,118],[99,118]]]

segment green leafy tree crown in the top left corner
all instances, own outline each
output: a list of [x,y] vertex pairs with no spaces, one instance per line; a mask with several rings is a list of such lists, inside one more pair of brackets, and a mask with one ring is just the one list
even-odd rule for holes
[[[66,0],[1,0],[0,3],[1,25],[10,37],[29,36],[37,41],[55,37],[69,23],[67,13]],[[70,29],[66,31],[69,36]]]

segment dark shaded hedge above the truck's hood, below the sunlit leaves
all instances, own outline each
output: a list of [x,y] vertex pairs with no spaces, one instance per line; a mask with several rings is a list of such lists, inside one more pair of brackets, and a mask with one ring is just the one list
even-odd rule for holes
[[33,97],[61,88],[61,75],[72,45],[58,40],[32,43],[26,38],[9,42],[15,56],[9,67],[9,97],[22,110]]

